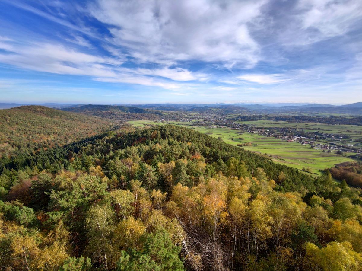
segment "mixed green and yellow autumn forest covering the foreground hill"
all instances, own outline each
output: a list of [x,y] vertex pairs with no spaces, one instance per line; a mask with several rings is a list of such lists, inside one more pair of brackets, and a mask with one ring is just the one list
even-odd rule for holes
[[2,270],[361,270],[361,188],[175,125],[0,159]]

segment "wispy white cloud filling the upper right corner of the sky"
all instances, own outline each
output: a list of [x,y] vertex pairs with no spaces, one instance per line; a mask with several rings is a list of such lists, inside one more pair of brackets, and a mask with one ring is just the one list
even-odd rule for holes
[[266,21],[271,25],[264,26],[284,46],[306,46],[360,29],[361,12],[358,0],[290,1],[270,14]]

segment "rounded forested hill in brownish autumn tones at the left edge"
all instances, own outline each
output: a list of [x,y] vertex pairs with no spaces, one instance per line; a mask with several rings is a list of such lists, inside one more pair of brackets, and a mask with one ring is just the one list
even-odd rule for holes
[[104,133],[111,120],[38,105],[0,110],[0,157],[32,153]]

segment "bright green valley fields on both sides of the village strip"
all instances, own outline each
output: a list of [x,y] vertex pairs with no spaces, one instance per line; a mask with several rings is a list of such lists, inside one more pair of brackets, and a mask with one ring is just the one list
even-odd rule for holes
[[[176,124],[182,125],[184,127],[188,127],[190,129],[195,129],[198,132],[208,134],[211,137],[222,138],[222,140],[231,145],[243,145],[241,146],[245,150],[253,151],[256,153],[260,153],[266,156],[269,156],[270,159],[273,159],[274,162],[285,164],[290,167],[298,168],[299,170],[303,170],[304,168],[310,168],[311,173],[313,174],[322,174],[325,168],[334,167],[336,164],[344,163],[344,162],[355,162],[355,159],[352,159],[347,155],[337,154],[337,151],[331,151],[328,153],[325,150],[318,148],[311,148],[310,144],[300,144],[299,142],[287,142],[286,140],[282,140],[280,138],[269,137],[268,135],[260,135],[257,133],[248,133],[243,132],[240,133],[240,130],[234,130],[232,128],[215,128],[215,125],[210,125],[208,127],[202,126],[193,126],[193,122],[181,122],[181,121],[167,121],[167,122],[159,122],[159,121],[129,121],[130,124],[136,127],[147,127],[152,125],[163,125],[163,124]],[[279,127],[295,127],[298,125],[301,129],[307,130],[307,128],[314,128],[313,125],[317,124],[288,124],[282,122],[270,122],[270,121],[250,121],[240,123],[248,124],[248,125],[259,125],[261,127],[266,127],[266,125],[270,126],[279,126]],[[285,126],[284,126],[285,125]],[[311,126],[312,125],[312,126]],[[332,126],[332,127],[330,127]],[[345,129],[346,125],[324,125],[319,124],[316,128],[323,127],[328,128],[328,132],[341,132],[342,129]],[[359,129],[362,131],[362,126],[353,126],[353,128],[348,127],[349,129]],[[313,131],[313,130],[311,130]],[[360,133],[351,133],[355,138],[360,138]],[[358,137],[359,136],[359,137]]]

